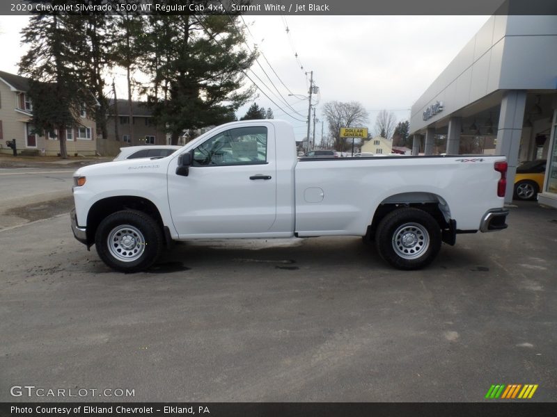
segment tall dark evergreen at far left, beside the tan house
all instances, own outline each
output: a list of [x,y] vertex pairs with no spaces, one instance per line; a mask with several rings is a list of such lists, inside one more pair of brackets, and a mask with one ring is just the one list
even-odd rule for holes
[[[53,6],[66,3],[52,0]],[[33,15],[22,31],[22,42],[29,51],[19,62],[19,73],[29,76],[29,91],[33,102],[32,123],[40,135],[58,131],[60,155],[68,157],[66,129],[79,126],[81,109],[93,108],[95,99],[81,81],[87,66],[81,60],[83,38],[81,19],[68,15]]]

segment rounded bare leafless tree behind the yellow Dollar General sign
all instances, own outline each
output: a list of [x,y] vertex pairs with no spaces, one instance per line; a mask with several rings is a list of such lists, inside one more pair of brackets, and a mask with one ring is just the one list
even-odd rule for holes
[[363,127],[368,122],[369,115],[357,101],[340,103],[329,101],[323,106],[323,114],[329,125],[329,135],[333,138],[334,149],[340,152],[347,150],[346,138],[340,138],[341,127]]

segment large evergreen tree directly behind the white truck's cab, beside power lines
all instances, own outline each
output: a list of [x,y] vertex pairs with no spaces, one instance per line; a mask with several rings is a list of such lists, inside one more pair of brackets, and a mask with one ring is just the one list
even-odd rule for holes
[[256,53],[241,48],[244,34],[236,19],[228,15],[150,18],[148,102],[155,122],[166,126],[172,143],[186,129],[229,121],[253,95],[253,89],[240,88]]

